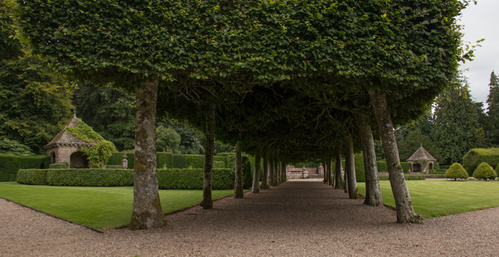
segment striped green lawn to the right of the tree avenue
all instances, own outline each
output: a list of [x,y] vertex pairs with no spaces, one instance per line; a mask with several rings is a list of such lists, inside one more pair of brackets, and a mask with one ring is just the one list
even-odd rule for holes
[[[499,206],[498,181],[408,180],[412,206],[423,218],[476,211]],[[395,208],[389,181],[380,181],[383,202]],[[358,183],[365,195],[365,184]]]

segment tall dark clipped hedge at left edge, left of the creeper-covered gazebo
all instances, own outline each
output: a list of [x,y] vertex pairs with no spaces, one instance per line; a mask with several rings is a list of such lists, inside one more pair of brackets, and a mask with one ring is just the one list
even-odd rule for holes
[[0,154],[0,181],[16,181],[17,170],[26,168],[48,168],[47,155]]

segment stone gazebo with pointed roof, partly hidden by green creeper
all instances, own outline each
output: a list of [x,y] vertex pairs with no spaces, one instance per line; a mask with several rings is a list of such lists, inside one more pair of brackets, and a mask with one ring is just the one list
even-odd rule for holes
[[51,157],[51,163],[67,163],[68,168],[89,168],[87,156],[81,151],[95,143],[82,141],[66,130],[67,127],[76,127],[80,122],[73,114],[71,121],[44,146],[47,155]]

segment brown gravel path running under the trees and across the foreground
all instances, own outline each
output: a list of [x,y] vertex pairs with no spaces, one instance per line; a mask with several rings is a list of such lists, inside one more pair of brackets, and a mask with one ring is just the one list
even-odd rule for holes
[[499,208],[396,224],[317,179],[227,197],[148,231],[96,233],[0,200],[0,256],[497,256]]

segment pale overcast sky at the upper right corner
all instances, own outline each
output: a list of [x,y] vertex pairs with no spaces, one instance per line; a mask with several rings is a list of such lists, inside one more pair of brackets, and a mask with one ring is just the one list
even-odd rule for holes
[[487,106],[490,74],[499,74],[499,0],[478,0],[476,6],[471,3],[463,10],[459,24],[464,25],[464,42],[485,39],[475,50],[474,60],[462,64],[461,70],[469,78],[473,98]]

